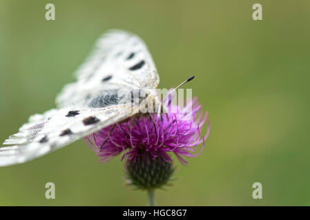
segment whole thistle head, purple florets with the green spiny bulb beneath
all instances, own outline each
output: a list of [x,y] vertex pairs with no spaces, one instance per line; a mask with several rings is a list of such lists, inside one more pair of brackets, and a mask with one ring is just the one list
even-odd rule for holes
[[[162,187],[173,174],[171,154],[186,165],[184,157],[200,155],[209,135],[207,113],[202,117],[196,98],[182,109],[171,104],[171,99],[164,104],[168,113],[130,118],[85,137],[101,162],[122,154],[130,184],[137,188]],[[207,131],[202,135],[205,122]],[[200,144],[202,148],[198,149]]]

